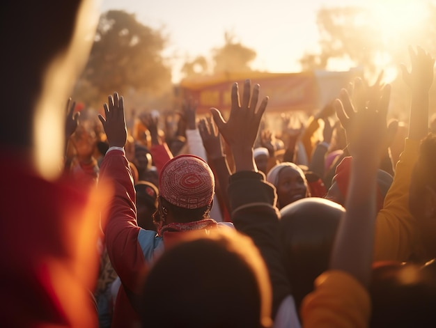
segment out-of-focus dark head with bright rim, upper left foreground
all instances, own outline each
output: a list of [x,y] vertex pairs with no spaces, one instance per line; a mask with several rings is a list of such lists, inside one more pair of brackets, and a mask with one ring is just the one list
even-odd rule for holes
[[47,178],[59,172],[65,104],[86,63],[100,1],[5,1],[0,36],[3,97],[0,143],[29,152]]

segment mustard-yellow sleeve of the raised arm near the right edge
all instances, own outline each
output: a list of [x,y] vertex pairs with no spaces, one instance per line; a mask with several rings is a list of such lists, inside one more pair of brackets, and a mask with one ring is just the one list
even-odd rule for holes
[[415,240],[415,223],[409,212],[410,175],[419,153],[419,141],[406,139],[396,165],[394,182],[375,221],[374,261],[405,261]]

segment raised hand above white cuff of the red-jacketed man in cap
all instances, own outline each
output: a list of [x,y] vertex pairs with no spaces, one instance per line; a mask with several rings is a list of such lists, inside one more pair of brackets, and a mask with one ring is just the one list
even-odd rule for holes
[[125,125],[124,100],[114,93],[109,95],[108,104],[104,104],[104,116],[98,118],[103,125],[109,142],[109,147],[124,147],[127,141],[127,127]]

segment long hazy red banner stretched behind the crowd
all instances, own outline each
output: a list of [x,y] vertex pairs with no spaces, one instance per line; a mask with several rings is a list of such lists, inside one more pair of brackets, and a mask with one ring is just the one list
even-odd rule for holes
[[[339,90],[350,81],[349,72],[328,72],[326,79],[318,81],[314,72],[301,73],[266,73],[248,72],[215,75],[213,77],[194,77],[185,79],[180,84],[180,96],[192,97],[198,102],[198,114],[208,113],[210,107],[228,111],[231,106],[231,87],[238,82],[240,93],[245,79],[251,80],[251,86],[260,84],[260,99],[269,96],[267,111],[307,111],[312,112],[325,103],[325,92],[328,89],[334,99]],[[332,81],[334,86],[327,80]],[[322,82],[321,84],[319,82]],[[334,88],[335,90],[332,90]],[[334,94],[334,95],[333,95]]]

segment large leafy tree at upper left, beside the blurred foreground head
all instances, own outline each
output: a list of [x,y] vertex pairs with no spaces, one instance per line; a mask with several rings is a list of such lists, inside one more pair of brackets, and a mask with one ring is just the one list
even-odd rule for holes
[[[144,93],[148,98],[171,92],[171,68],[161,54],[165,46],[162,31],[141,24],[133,14],[102,14],[75,97],[100,105],[114,91]],[[93,92],[89,86],[94,86]]]

